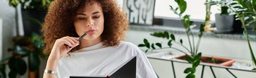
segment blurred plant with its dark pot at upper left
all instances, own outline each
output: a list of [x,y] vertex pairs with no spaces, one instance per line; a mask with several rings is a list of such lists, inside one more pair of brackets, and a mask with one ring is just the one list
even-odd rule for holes
[[22,21],[24,25],[24,35],[30,36],[32,32],[42,35],[40,28],[36,23],[31,21],[38,20],[43,22],[46,10],[53,0],[9,0],[9,5],[17,8],[21,5]]

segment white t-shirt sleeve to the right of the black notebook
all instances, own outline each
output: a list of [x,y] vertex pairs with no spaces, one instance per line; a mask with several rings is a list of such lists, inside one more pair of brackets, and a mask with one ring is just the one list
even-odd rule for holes
[[137,78],[158,78],[145,53],[135,45],[133,51],[137,53]]

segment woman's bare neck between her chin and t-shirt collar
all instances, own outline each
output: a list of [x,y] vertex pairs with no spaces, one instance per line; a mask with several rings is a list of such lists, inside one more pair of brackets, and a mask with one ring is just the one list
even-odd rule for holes
[[90,47],[90,46],[96,45],[96,44],[98,44],[100,42],[102,42],[100,37],[98,37],[97,39],[91,40],[91,41],[90,40],[82,39],[80,41],[79,49],[82,49],[84,47]]

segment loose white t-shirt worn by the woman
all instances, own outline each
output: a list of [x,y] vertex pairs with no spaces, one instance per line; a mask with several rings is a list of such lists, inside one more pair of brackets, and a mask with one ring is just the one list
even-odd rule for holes
[[137,78],[157,78],[143,51],[133,43],[124,41],[117,47],[98,43],[71,53],[71,57],[62,57],[57,65],[57,76],[108,75],[133,56],[137,56]]

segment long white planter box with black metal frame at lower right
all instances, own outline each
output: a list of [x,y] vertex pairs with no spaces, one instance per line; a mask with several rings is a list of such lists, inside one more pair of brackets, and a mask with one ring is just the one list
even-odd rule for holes
[[[187,61],[179,59],[157,58],[159,56],[163,56],[164,54],[168,53],[162,52],[147,55],[154,71],[156,71],[156,74],[160,78],[174,78],[174,75],[176,78],[185,78],[187,74],[183,73],[183,71],[187,67],[191,67],[192,65],[190,63],[187,63]],[[214,72],[214,74],[212,71]],[[256,75],[256,71],[200,64],[196,69],[195,75],[196,78],[201,78],[202,75],[203,78],[214,78],[214,76],[217,78],[253,78]]]

